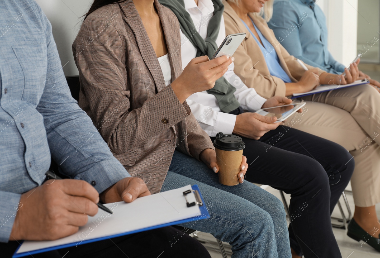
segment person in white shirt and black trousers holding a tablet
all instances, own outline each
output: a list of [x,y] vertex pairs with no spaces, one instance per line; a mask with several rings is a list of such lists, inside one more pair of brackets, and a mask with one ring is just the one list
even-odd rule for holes
[[[176,0],[159,1],[179,19],[182,66],[196,56],[211,57],[226,36],[223,17],[217,20],[223,12],[221,1],[184,0],[184,5]],[[246,145],[243,153],[250,164],[246,180],[291,194],[289,233],[293,250],[301,249],[307,258],[341,257],[332,233],[330,209],[350,180],[354,168],[354,163],[349,161],[352,157],[338,144],[253,113],[291,100],[260,97],[234,73],[233,63],[224,78],[225,84],[234,86],[230,90],[234,98],[228,91],[225,95],[230,103],[237,102],[237,108],[229,111],[227,104],[220,104],[223,98],[212,90],[198,92],[187,99],[195,118],[212,139],[219,131],[243,136]],[[302,113],[298,117],[302,119]]]

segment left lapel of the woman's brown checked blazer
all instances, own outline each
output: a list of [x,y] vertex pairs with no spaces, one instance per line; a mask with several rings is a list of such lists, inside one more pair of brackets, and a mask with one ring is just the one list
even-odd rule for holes
[[[156,1],[155,1],[155,4]],[[145,65],[148,67],[150,74],[152,74],[157,92],[165,88],[165,79],[161,71],[160,63],[158,62],[156,53],[154,52],[153,46],[150,43],[150,39],[144,24],[142,24],[139,13],[137,12],[133,1],[126,1],[125,4],[121,3],[125,17],[124,21],[127,22],[133,33],[135,34],[136,42],[140,50],[142,59]],[[173,70],[173,68],[172,68]]]

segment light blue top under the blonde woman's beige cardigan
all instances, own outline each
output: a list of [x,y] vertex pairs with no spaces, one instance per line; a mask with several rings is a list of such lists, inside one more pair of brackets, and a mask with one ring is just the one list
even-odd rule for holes
[[256,27],[255,23],[252,21],[253,26],[255,26],[255,30],[257,34],[260,37],[261,42],[263,42],[263,45],[261,45],[260,41],[256,38],[255,34],[252,33],[248,25],[243,21],[243,24],[245,27],[247,27],[247,30],[251,33],[253,38],[256,40],[257,44],[260,46],[261,52],[263,52],[266,65],[268,66],[269,73],[272,76],[278,77],[282,79],[284,82],[291,82],[291,79],[289,78],[288,74],[283,70],[282,66],[280,65],[280,59],[277,55],[276,51],[274,50],[274,47],[272,44],[261,34],[260,30]]

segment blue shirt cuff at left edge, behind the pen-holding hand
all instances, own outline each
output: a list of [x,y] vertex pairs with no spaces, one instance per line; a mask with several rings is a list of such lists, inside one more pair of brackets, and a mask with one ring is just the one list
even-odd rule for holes
[[0,242],[7,243],[20,206],[21,195],[0,191]]

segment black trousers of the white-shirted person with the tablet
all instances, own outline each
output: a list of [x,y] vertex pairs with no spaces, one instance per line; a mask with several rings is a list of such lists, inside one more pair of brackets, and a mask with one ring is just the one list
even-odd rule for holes
[[[353,173],[354,161],[348,151],[285,126],[257,141],[242,139],[249,165],[245,180],[291,195],[288,231],[293,250],[306,258],[342,257],[330,216]],[[275,229],[275,233],[282,230]]]

